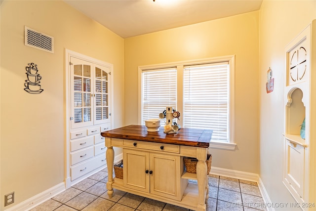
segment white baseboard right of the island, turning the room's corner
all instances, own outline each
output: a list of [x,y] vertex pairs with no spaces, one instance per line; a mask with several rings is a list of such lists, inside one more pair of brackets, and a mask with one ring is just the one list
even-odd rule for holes
[[[272,204],[268,192],[259,176],[256,173],[249,173],[245,171],[231,170],[231,169],[223,169],[218,167],[212,167],[211,174],[216,174],[220,176],[228,176],[236,179],[243,179],[247,181],[253,181],[258,183],[258,187],[262,196],[262,199],[265,204]],[[275,211],[274,208],[267,207],[267,211]]]

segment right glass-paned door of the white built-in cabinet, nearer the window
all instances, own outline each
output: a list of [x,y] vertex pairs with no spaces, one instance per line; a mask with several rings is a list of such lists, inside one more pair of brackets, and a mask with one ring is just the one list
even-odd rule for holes
[[110,68],[94,65],[95,84],[95,124],[111,121],[109,114],[109,74]]

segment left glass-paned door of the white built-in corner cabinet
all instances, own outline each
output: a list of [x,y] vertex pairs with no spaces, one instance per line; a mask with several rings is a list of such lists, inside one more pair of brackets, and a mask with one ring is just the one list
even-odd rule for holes
[[92,63],[71,58],[71,127],[93,125]]

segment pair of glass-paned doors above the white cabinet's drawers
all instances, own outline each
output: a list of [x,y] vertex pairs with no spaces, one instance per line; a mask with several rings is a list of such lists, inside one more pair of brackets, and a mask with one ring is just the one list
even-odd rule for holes
[[71,128],[111,122],[110,68],[71,57]]

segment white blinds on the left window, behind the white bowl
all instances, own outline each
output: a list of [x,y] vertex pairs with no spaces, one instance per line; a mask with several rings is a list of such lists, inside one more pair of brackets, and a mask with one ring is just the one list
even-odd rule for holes
[[[142,125],[145,120],[158,119],[166,107],[176,107],[176,68],[142,71]],[[160,121],[161,125],[164,125]]]

